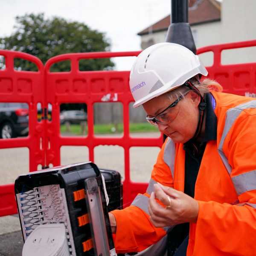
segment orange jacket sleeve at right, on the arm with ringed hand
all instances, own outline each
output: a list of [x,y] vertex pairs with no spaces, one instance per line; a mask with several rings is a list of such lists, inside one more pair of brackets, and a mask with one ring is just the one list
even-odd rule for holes
[[256,110],[250,113],[242,113],[223,145],[239,201],[236,205],[198,201],[195,246],[208,244],[209,255],[256,253]]

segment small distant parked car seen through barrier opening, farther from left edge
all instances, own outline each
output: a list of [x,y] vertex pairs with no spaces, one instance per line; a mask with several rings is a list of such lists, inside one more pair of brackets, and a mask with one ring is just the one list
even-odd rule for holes
[[70,124],[80,124],[87,121],[87,113],[82,110],[67,110],[60,113],[61,124],[69,122]]

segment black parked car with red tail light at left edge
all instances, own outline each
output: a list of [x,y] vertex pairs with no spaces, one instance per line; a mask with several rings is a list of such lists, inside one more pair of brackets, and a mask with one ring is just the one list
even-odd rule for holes
[[26,103],[0,103],[0,138],[24,136],[28,132],[28,105]]

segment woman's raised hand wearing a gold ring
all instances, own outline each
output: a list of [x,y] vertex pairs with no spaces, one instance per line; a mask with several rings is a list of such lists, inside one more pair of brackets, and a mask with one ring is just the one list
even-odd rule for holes
[[[148,211],[155,227],[197,221],[199,207],[194,198],[160,184],[155,184],[154,189],[155,192],[152,192],[149,198]],[[158,204],[156,198],[164,206]]]

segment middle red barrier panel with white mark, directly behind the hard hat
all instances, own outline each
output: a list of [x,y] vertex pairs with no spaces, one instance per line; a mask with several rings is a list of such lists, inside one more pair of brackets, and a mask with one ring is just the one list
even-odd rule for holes
[[[129,87],[129,71],[79,71],[79,60],[88,58],[111,58],[137,56],[140,52],[94,52],[64,54],[49,59],[45,65],[46,100],[52,104],[52,122],[47,121],[47,165],[60,164],[60,148],[65,145],[87,146],[89,160],[94,162],[94,148],[98,145],[119,145],[124,149],[125,175],[123,181],[123,204],[131,202],[140,192],[146,190],[147,183],[134,183],[130,179],[130,153],[133,146],[159,146],[158,138],[136,138],[129,134],[129,103],[134,99]],[[70,72],[51,73],[50,67],[59,61],[70,61]],[[61,77],[61,80],[60,80]],[[107,100],[108,99],[108,100]],[[60,104],[81,102],[87,104],[87,137],[61,137]],[[121,102],[123,106],[123,136],[96,137],[93,132],[93,105],[97,102]],[[113,156],[114,158],[114,156]],[[118,170],[116,170],[118,171]]]

